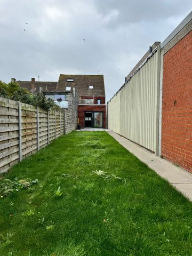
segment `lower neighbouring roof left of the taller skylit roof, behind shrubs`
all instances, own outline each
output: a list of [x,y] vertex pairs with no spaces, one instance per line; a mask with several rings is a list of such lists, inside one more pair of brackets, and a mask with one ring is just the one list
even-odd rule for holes
[[33,85],[34,85],[35,90],[33,90],[33,91],[35,91],[35,92],[39,92],[39,87],[43,88],[43,92],[55,92],[58,82],[17,81],[17,83],[21,87],[24,87],[24,88],[28,89],[29,91],[31,91],[31,89],[33,90]]

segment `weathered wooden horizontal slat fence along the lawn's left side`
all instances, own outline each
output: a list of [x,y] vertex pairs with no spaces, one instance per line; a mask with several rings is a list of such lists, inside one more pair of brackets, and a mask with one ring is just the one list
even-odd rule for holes
[[[75,130],[73,115],[0,97],[0,173],[49,145],[51,141]],[[66,126],[66,124],[67,126]]]

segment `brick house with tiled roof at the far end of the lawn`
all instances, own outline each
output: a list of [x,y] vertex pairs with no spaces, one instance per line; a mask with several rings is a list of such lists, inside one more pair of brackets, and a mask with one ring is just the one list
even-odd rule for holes
[[103,75],[60,75],[57,91],[75,88],[78,93],[78,124],[106,127],[105,84]]

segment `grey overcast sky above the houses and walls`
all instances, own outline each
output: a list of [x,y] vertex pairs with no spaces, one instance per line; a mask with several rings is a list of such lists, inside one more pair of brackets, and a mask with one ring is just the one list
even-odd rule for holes
[[0,80],[103,74],[109,100],[191,9],[191,0],[0,0]]

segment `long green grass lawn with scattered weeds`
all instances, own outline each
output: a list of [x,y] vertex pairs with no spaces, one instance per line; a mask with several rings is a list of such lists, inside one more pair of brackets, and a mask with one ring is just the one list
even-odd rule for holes
[[[100,172],[99,172],[100,171]],[[106,132],[72,132],[0,179],[0,255],[192,255],[192,204]]]

